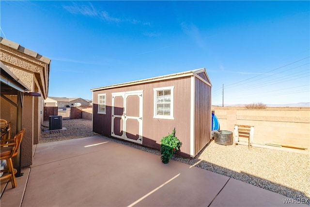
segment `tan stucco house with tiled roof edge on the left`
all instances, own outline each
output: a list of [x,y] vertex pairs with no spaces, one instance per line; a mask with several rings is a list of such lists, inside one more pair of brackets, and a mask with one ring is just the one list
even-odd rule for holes
[[[29,89],[24,94],[22,128],[25,134],[21,145],[21,166],[32,164],[32,147],[38,143],[43,124],[44,99],[48,94],[50,59],[24,48],[19,44],[0,38],[0,60]],[[4,97],[5,96],[5,97]],[[12,124],[11,136],[16,135],[16,96],[2,95],[0,99],[0,116]]]

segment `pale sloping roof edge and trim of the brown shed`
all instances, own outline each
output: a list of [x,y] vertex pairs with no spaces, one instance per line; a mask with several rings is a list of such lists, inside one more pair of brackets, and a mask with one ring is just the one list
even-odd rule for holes
[[[170,80],[170,79],[182,78],[182,77],[187,77],[187,76],[193,76],[194,74],[198,74],[198,73],[202,73],[202,72],[205,72],[205,68],[200,68],[200,69],[196,69],[196,70],[189,70],[189,71],[185,71],[185,72],[181,72],[181,73],[174,73],[174,74],[165,75],[165,76],[158,76],[158,77],[150,78],[150,79],[135,80],[135,81],[119,83],[119,84],[115,84],[115,85],[93,88],[93,89],[91,89],[91,91],[99,91],[99,90],[110,89],[110,88],[118,88],[118,87],[124,87],[124,86],[129,86],[129,85],[137,85],[137,84],[141,84],[141,83],[155,82],[155,81],[160,81],[160,80]],[[208,82],[211,85],[211,81],[210,81],[208,75],[206,74],[206,72],[205,72],[205,75],[208,79]]]

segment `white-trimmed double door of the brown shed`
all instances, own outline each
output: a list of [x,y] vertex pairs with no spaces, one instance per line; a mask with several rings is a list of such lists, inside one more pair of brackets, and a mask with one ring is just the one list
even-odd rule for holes
[[111,136],[142,143],[143,91],[112,93]]

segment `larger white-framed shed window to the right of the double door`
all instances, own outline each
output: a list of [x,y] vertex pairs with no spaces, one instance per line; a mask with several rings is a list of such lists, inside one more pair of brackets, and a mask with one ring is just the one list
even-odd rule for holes
[[174,86],[154,88],[154,118],[173,118],[173,89]]

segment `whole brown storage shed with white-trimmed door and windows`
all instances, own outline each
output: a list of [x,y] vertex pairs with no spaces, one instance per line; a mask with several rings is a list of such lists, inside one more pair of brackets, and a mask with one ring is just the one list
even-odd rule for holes
[[205,68],[93,88],[93,132],[160,149],[172,133],[195,157],[211,140],[211,82]]

